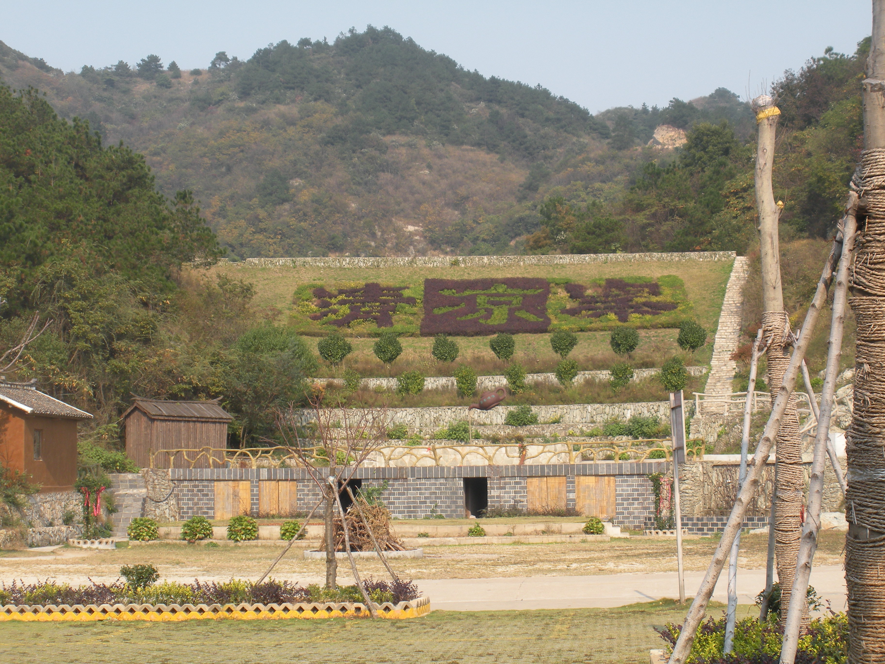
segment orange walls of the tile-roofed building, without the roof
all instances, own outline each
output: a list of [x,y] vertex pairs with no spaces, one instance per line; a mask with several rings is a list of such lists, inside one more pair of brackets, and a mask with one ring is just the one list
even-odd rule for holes
[[[34,459],[34,429],[42,429],[41,459]],[[0,406],[0,458],[31,475],[41,493],[73,490],[77,480],[77,421],[29,417]]]

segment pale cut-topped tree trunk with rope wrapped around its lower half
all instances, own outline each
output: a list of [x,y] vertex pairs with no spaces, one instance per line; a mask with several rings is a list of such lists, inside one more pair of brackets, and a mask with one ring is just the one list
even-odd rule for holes
[[[789,364],[789,318],[783,310],[781,249],[778,237],[781,210],[774,202],[772,190],[774,135],[781,112],[774,105],[772,97],[767,95],[754,99],[753,108],[757,113],[759,130],[755,180],[762,259],[762,328],[768,339],[768,385],[773,404]],[[777,498],[773,524],[774,551],[777,556],[778,581],[781,583],[781,606],[788,606],[802,538],[804,493],[802,437],[799,436],[796,398],[792,396],[778,431],[775,463],[777,480],[774,493]],[[786,620],[787,614],[782,612],[781,628]]]

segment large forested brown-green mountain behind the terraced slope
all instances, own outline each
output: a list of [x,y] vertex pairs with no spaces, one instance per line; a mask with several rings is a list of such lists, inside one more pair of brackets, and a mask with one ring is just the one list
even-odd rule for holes
[[[0,44],[0,77],[141,151],[160,190],[192,190],[241,258],[526,251],[549,190],[581,205],[620,201],[637,167],[662,157],[640,147],[658,124],[730,120],[743,137],[752,127],[724,89],[594,117],[387,27],[280,42],[245,61],[221,52],[191,71],[148,56],[61,73]],[[575,251],[650,242],[617,235]],[[535,239],[527,251],[559,249]]]

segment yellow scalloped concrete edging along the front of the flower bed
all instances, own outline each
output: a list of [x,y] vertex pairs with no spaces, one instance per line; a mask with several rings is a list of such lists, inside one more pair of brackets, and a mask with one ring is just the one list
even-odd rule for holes
[[[401,620],[430,613],[430,599],[421,597],[399,604],[375,605],[379,618]],[[173,622],[189,620],[279,620],[301,618],[367,618],[365,604],[312,602],[303,604],[76,604],[34,605],[0,608],[0,622],[89,622],[103,620]]]

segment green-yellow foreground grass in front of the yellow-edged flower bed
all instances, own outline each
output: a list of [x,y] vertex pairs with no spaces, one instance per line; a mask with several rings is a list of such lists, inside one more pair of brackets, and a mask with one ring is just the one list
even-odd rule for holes
[[[722,605],[711,604],[719,615]],[[755,607],[739,606],[738,615]],[[17,664],[102,661],[238,662],[550,662],[649,660],[664,647],[655,632],[681,622],[686,607],[671,599],[610,609],[435,611],[403,621],[4,622],[0,655]]]

